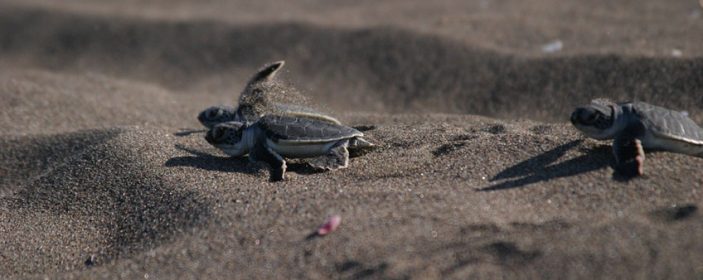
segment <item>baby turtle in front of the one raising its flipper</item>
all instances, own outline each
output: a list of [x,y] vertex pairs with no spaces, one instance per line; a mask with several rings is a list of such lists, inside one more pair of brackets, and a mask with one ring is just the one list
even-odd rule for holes
[[208,131],[208,143],[231,156],[249,154],[271,166],[271,180],[284,179],[284,158],[314,158],[311,165],[333,170],[349,164],[350,149],[374,145],[360,131],[338,124],[292,116],[265,115],[254,123],[226,122]]

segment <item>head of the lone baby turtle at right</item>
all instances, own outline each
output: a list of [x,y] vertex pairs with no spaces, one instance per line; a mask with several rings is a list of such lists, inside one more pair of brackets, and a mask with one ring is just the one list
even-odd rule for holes
[[618,129],[615,119],[619,106],[608,100],[596,99],[571,113],[571,123],[588,137],[604,140],[615,137]]

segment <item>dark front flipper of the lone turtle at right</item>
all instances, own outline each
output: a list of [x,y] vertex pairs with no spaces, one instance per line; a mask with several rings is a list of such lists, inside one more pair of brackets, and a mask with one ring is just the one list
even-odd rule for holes
[[644,135],[641,123],[625,128],[613,142],[616,171],[628,178],[644,175],[644,148],[640,138]]

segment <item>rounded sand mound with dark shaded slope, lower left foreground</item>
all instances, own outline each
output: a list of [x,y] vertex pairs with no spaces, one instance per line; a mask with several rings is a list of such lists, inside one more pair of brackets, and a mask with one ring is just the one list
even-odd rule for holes
[[149,134],[125,128],[4,138],[0,157],[11,175],[0,186],[2,247],[17,253],[3,259],[3,274],[84,268],[91,256],[102,264],[206,221],[201,196],[155,172],[162,162],[149,157],[172,147]]

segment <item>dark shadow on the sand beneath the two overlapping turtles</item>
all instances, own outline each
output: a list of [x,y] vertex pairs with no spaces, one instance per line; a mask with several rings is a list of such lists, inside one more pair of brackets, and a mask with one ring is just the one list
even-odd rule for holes
[[[188,152],[191,156],[173,157],[166,161],[164,166],[190,166],[209,171],[238,172],[245,174],[256,174],[262,169],[262,164],[252,164],[247,157],[216,156],[206,152],[198,151],[183,145],[176,144],[176,149]],[[297,174],[317,174],[324,170],[318,170],[305,162],[288,162],[288,170]],[[268,168],[266,168],[268,170]]]

